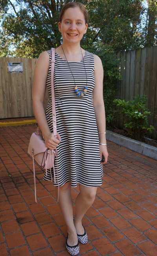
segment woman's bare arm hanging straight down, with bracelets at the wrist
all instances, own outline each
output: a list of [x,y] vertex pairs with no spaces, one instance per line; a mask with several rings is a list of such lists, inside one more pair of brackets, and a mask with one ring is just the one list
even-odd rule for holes
[[[105,119],[105,108],[103,100],[103,76],[104,70],[102,67],[101,59],[94,55],[94,76],[95,76],[95,87],[93,90],[93,106],[95,111],[95,117],[97,121],[98,132],[106,132],[106,119]],[[106,134],[99,134],[100,143],[106,144]],[[105,145],[100,145],[100,158],[102,155],[105,158],[103,163],[108,160],[108,151]]]

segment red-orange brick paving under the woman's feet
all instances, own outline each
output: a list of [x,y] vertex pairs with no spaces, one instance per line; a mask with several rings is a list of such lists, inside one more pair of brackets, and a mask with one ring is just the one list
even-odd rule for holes
[[[0,256],[68,256],[55,187],[27,154],[35,125],[0,128]],[[108,141],[102,186],[83,218],[84,256],[157,256],[157,161]],[[73,210],[79,186],[71,188]]]

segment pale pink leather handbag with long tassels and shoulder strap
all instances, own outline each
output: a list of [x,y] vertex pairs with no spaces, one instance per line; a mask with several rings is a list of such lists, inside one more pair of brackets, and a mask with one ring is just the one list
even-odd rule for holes
[[[52,51],[52,58],[51,58],[51,95],[52,95],[52,117],[53,117],[53,135],[57,138],[57,124],[56,124],[56,108],[55,108],[55,92],[54,92],[54,69],[55,69],[55,48],[51,48]],[[35,180],[35,165],[34,161],[42,168],[46,169],[46,176],[47,176],[47,169],[53,167],[54,173],[54,182],[56,183],[55,179],[55,167],[54,161],[55,156],[57,160],[57,148],[55,150],[50,150],[45,146],[44,139],[40,136],[40,127],[37,124],[36,132],[31,135],[29,146],[28,146],[28,154],[33,158],[33,174],[34,174],[34,183],[35,183],[35,202],[37,202],[37,194],[36,194],[36,180]],[[51,173],[51,171],[50,171]],[[57,167],[57,180],[58,180],[58,167]],[[51,181],[52,181],[52,174],[51,174]],[[59,183],[58,183],[58,198],[59,199]]]

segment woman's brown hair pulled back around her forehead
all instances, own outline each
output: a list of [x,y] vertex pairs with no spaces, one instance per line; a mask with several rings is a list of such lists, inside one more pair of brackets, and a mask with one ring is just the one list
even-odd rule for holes
[[81,4],[80,2],[71,2],[71,3],[68,3],[66,4],[61,12],[60,12],[60,15],[59,15],[59,22],[62,22],[62,18],[63,18],[63,15],[65,13],[65,11],[69,8],[75,8],[75,7],[79,7],[80,10],[82,11],[82,13],[84,14],[84,19],[85,19],[85,23],[87,24],[88,23],[88,13],[87,13],[87,10],[86,8],[84,7],[83,4]]

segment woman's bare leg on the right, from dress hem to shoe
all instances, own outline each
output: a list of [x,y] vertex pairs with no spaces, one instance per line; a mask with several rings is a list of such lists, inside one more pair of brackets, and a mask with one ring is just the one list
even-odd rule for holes
[[76,212],[74,224],[78,235],[84,234],[84,228],[82,227],[82,218],[84,214],[93,204],[97,187],[85,187],[79,184],[80,193],[75,200]]

